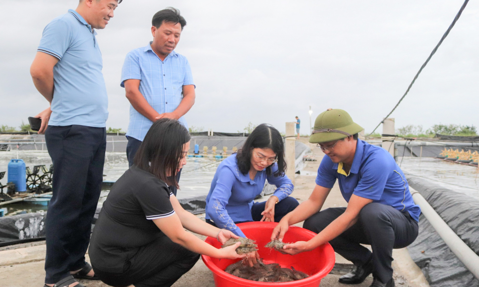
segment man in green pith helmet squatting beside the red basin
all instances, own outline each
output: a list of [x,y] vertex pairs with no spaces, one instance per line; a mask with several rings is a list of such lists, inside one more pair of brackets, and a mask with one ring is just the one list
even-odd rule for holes
[[[372,273],[370,287],[394,287],[392,250],[416,239],[421,209],[391,154],[358,140],[362,130],[340,109],[328,109],[316,118],[309,142],[325,153],[316,186],[306,201],[283,217],[271,239],[282,240],[289,225],[304,220],[303,227],[317,235],[285,245],[284,253],[294,255],[329,242],[355,265],[339,282],[360,284]],[[347,207],[320,211],[336,179]],[[371,245],[372,252],[361,244]]]

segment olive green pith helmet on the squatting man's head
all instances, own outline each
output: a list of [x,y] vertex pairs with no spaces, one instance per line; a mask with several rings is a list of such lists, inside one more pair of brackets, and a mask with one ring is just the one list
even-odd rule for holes
[[358,124],[344,110],[328,109],[316,117],[314,130],[309,137],[310,143],[326,143],[341,140],[361,132]]

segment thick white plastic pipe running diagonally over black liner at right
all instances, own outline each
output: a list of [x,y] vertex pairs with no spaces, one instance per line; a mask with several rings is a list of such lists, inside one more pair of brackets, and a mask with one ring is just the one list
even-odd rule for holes
[[459,238],[459,236],[444,222],[428,201],[414,188],[409,187],[414,202],[421,207],[421,212],[441,236],[446,245],[466,266],[466,268],[479,280],[479,256]]

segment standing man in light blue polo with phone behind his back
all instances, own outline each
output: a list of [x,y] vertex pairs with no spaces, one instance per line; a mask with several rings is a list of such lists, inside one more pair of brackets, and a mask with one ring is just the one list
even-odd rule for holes
[[94,279],[85,253],[103,180],[108,118],[95,29],[105,28],[119,2],[80,0],[76,10],[53,19],[30,68],[50,103],[37,117],[55,171],[45,226],[45,286],[81,287],[73,277]]

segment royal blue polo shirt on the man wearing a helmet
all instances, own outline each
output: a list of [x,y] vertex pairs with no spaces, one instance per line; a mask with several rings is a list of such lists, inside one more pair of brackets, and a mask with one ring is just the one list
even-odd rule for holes
[[358,140],[349,174],[344,171],[342,162],[334,163],[325,155],[318,168],[316,184],[332,188],[336,179],[347,202],[355,194],[401,212],[407,211],[419,221],[421,209],[414,204],[406,176],[384,148]]

